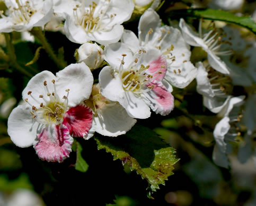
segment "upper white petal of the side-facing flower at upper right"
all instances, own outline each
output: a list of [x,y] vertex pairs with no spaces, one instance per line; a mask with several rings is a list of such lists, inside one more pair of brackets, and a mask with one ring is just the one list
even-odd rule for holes
[[202,41],[202,39],[198,37],[198,34],[193,31],[188,24],[186,24],[183,18],[180,19],[179,26],[182,31],[182,36],[188,44],[192,46],[201,46],[202,48],[208,48],[204,41]]

